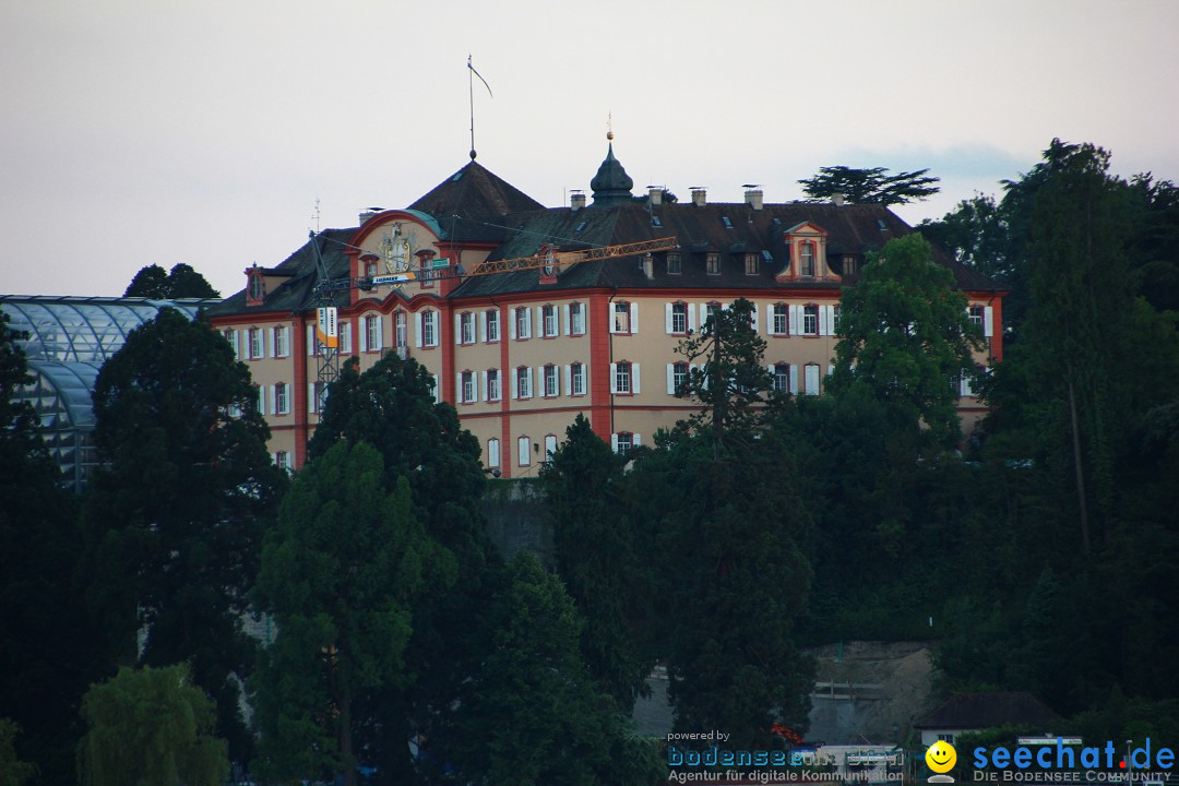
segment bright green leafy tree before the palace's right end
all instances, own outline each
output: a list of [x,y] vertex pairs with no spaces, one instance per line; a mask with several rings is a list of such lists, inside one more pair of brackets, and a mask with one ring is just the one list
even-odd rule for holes
[[983,348],[967,297],[920,235],[890,240],[844,290],[828,390],[885,404],[889,427],[941,448],[959,440],[957,379]]

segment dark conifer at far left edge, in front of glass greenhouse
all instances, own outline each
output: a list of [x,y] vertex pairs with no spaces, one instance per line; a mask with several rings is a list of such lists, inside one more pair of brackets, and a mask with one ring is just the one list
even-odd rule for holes
[[17,338],[0,312],[0,712],[22,729],[19,758],[62,782],[81,735],[81,694],[108,673],[110,655],[87,608],[77,498],[60,483],[37,414],[17,399],[32,381]]

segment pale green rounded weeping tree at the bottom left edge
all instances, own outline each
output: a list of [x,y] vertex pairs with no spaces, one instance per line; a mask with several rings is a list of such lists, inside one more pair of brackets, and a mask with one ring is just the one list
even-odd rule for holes
[[91,687],[81,712],[85,786],[220,786],[229,777],[225,740],[213,735],[213,702],[186,666],[121,668]]

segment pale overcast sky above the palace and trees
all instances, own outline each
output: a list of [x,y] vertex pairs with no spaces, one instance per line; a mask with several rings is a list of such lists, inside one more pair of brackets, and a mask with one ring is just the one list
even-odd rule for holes
[[0,293],[223,295],[318,225],[480,164],[546,205],[634,179],[799,198],[818,167],[929,167],[938,218],[1053,137],[1179,180],[1179,2],[0,0]]

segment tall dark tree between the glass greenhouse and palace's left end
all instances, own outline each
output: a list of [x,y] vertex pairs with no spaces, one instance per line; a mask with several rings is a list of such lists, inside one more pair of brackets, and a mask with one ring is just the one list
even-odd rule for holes
[[251,746],[231,679],[252,659],[241,615],[263,526],[285,487],[256,401],[224,338],[164,309],[99,374],[94,440],[110,465],[92,477],[87,500],[103,623],[123,636],[125,658],[145,625],[141,663],[191,661],[235,759]]

